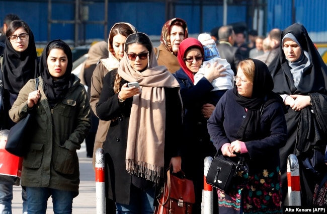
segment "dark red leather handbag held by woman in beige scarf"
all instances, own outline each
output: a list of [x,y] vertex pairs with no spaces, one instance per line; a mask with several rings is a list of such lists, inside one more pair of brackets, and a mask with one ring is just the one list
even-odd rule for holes
[[186,179],[182,171],[183,178],[180,178],[170,170],[167,170],[165,186],[161,188],[154,214],[191,214],[195,203],[193,181]]

